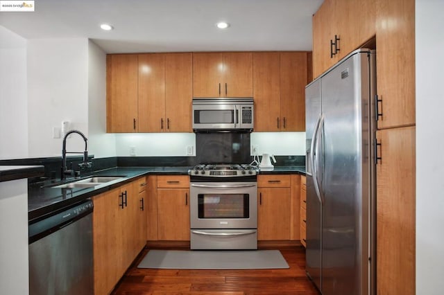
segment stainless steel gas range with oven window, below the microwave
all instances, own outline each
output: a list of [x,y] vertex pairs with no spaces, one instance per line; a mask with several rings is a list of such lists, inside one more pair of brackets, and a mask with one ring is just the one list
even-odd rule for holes
[[257,249],[257,170],[198,165],[188,171],[191,249]]

